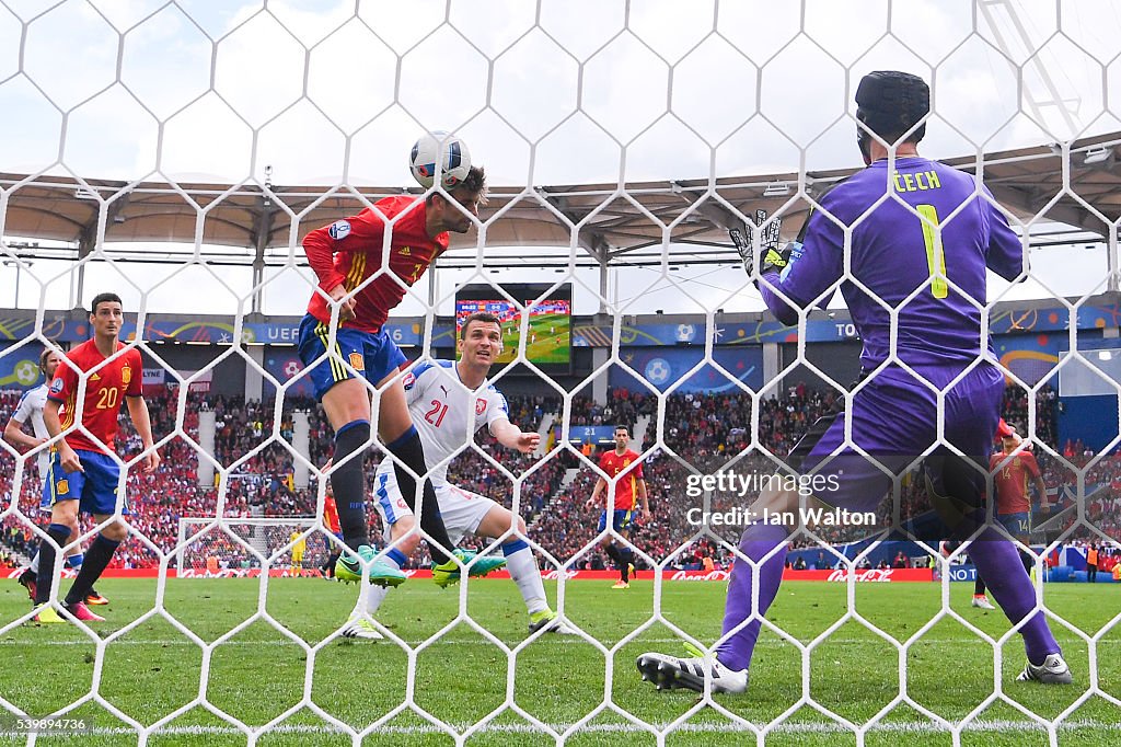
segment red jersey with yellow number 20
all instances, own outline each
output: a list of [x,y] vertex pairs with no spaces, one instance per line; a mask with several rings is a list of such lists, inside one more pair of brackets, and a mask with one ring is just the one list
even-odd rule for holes
[[[124,348],[118,342],[117,349]],[[89,371],[105,360],[93,340],[86,340],[70,351],[62,365],[55,371],[55,380],[50,382],[48,397],[63,404],[59,413],[63,431],[74,424],[77,413],[78,371]],[[113,453],[117,440],[117,416],[121,412],[124,397],[139,397],[142,394],[143,362],[140,351],[133,348],[120,354],[90,375],[85,385],[85,400],[82,406],[80,424],[104,446],[92,441],[81,431],[74,431],[66,436],[71,449],[85,449],[103,454]],[[108,451],[106,451],[108,449]]]

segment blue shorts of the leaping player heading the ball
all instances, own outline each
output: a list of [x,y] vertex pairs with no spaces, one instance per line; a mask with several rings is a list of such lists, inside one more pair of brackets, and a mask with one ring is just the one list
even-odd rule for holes
[[335,344],[331,348],[331,356],[312,368],[327,352],[328,331],[326,324],[311,314],[305,315],[299,323],[299,359],[308,371],[316,399],[323,399],[323,395],[340,381],[355,378],[342,361],[346,361],[374,386],[407,362],[405,354],[385,330],[362,332],[341,326],[335,335]]

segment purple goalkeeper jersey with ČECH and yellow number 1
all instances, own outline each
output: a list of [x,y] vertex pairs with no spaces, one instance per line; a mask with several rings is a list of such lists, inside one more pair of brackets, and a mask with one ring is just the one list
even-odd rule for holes
[[[839,184],[821,201],[824,212],[810,216],[800,252],[781,275],[767,279],[799,306],[814,302],[844,274],[845,237],[852,225],[852,276],[892,307],[926,284],[899,312],[899,360],[912,367],[975,360],[990,340],[981,341],[981,308],[985,303],[985,267],[1011,280],[1023,264],[1020,239],[992,202],[992,194],[972,176],[926,158],[897,158],[891,175],[895,194],[864,215],[888,191],[888,162],[881,159]],[[983,196],[982,196],[983,195]],[[962,206],[964,204],[964,206]],[[941,231],[933,229],[939,225]],[[860,220],[864,215],[863,220]],[[935,267],[948,278],[935,277]],[[767,306],[781,322],[794,324],[797,312],[760,284]],[[861,363],[872,369],[890,351],[891,317],[851,279],[841,293],[864,349]]]

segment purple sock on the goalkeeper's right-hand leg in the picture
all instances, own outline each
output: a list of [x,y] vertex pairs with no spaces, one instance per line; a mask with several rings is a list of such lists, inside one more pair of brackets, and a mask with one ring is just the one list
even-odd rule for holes
[[1031,611],[1036,606],[1036,590],[1023,570],[1016,545],[992,529],[985,529],[970,544],[970,557],[989,587],[989,593],[1012,625],[1031,615],[1020,628],[1028,661],[1041,664],[1048,654],[1060,653],[1043,609]]

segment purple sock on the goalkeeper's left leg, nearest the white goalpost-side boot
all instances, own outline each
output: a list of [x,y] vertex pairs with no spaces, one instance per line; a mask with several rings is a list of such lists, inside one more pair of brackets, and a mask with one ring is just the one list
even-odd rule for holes
[[[786,561],[786,529],[769,524],[752,524],[740,538],[740,552],[758,562],[767,553],[782,545],[766,563],[759,565],[759,617],[748,622],[736,633],[729,636],[716,648],[720,663],[730,670],[745,670],[751,664],[751,654],[759,638],[761,618],[775,601],[778,585],[782,581],[782,565]],[[752,587],[756,583],[756,570],[743,560],[736,557],[732,566],[732,579],[728,584],[728,602],[724,605],[724,629],[728,635],[743,620],[751,617]]]

